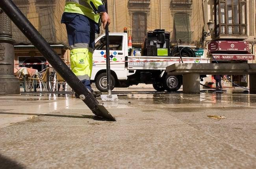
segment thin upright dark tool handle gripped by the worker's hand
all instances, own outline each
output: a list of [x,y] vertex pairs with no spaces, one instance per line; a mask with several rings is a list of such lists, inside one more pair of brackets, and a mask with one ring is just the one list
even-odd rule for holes
[[[106,11],[108,12],[108,2],[107,0],[105,0],[105,8],[106,8]],[[110,58],[109,58],[109,33],[108,33],[108,23],[105,27],[105,30],[106,30],[106,55],[107,55],[107,88],[108,88],[108,97],[112,97],[112,94],[111,94],[111,79],[110,79],[110,74],[111,74],[111,71],[110,71]]]

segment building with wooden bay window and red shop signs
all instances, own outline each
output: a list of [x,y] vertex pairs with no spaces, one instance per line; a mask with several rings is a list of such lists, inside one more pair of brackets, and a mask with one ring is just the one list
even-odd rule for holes
[[[204,22],[214,23],[211,36],[204,41],[206,56],[215,63],[255,63],[255,0],[204,0],[203,5]],[[248,76],[227,76],[240,86],[249,85]],[[236,86],[226,82],[226,86]]]

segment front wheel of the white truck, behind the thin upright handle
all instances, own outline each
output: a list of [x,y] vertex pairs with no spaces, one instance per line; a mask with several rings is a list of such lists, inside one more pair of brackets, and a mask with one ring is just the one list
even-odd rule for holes
[[[115,87],[115,78],[110,75],[110,89],[113,90]],[[95,85],[101,92],[107,92],[107,73],[100,73],[95,79]]]

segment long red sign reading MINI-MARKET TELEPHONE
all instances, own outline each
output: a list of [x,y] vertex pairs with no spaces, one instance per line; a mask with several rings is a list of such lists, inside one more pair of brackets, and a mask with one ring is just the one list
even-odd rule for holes
[[212,54],[214,60],[254,60],[255,55]]

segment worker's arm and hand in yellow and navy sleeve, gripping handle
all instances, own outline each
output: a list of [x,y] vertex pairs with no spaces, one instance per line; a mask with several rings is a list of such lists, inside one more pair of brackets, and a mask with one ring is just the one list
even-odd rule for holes
[[102,1],[101,0],[87,0],[87,3],[91,5],[91,8],[93,9],[94,13],[100,13],[101,22],[105,29],[107,23],[110,24],[110,18],[108,16],[108,13],[106,13],[106,9],[105,9],[104,5],[102,4]]

